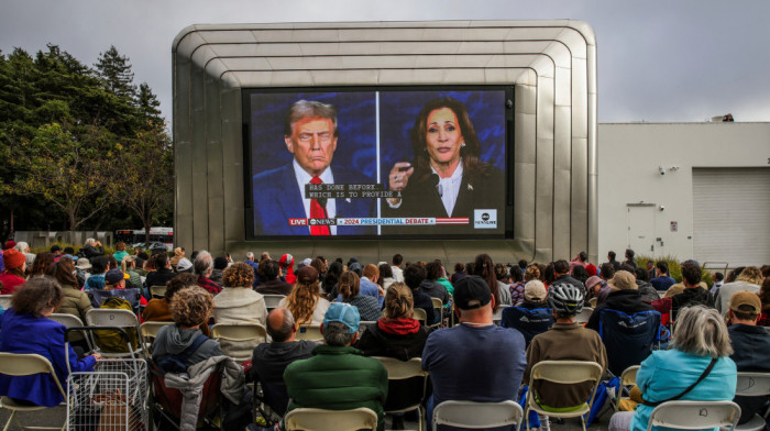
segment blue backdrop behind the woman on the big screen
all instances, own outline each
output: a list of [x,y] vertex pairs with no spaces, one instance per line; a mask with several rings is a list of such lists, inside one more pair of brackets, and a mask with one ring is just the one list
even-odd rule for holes
[[[411,162],[409,134],[428,101],[452,97],[468,109],[481,143],[481,161],[505,172],[505,91],[382,91],[380,92],[380,166],[382,183],[396,162]],[[501,185],[504,191],[504,185]]]

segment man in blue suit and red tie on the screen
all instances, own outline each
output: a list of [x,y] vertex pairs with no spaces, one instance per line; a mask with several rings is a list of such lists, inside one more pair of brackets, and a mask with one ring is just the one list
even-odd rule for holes
[[292,225],[289,219],[361,218],[374,214],[374,199],[310,198],[307,185],[369,184],[365,176],[330,166],[339,131],[337,109],[319,101],[298,100],[284,124],[292,163],[254,176],[254,233],[261,235],[367,235],[373,226]]

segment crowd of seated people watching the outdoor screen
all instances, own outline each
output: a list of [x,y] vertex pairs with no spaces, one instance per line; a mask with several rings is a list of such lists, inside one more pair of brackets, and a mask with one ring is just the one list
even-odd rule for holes
[[[668,263],[637,265],[632,251],[626,251],[625,262],[608,253],[607,262],[596,265],[584,253],[572,261],[516,265],[495,263],[482,253],[473,262],[451,266],[450,273],[439,259],[409,262],[400,254],[391,263],[354,257],[329,262],[316,256],[295,264],[289,254],[276,261],[262,253],[257,262],[249,252],[243,262],[232,262],[229,255],[207,251],[187,257],[182,247],[174,257],[165,252],[130,254],[124,244],[108,255],[94,241],[78,253],[54,246],[30,257],[28,244],[15,245],[4,250],[0,259],[2,294],[13,295],[11,309],[0,318],[0,351],[41,353],[43,346],[36,342],[45,341],[47,351],[41,354],[59,364],[63,382],[66,369],[94,369],[100,354],[73,352],[67,367],[62,363],[64,329],[47,317],[68,313],[85,321],[89,310],[103,306],[94,303],[94,294],[111,289],[138,291],[132,307],[138,322],[168,322],[153,342],[150,357],[155,363],[182,356],[189,367],[227,356],[223,352],[239,357],[251,353],[251,363],[244,364],[244,369],[251,367],[248,378],[263,384],[264,400],[279,416],[299,407],[370,407],[382,426],[387,373],[366,356],[422,358],[432,385],[428,391],[432,395],[425,400],[429,412],[450,399],[518,401],[525,385],[531,385],[542,407],[569,409],[587,399],[590,385],[565,389],[532,382],[529,373],[541,361],[565,360],[596,362],[606,371],[608,356],[617,353],[605,351],[600,335],[605,310],[629,317],[658,312],[666,327],[662,332],[671,334],[668,350],[651,346],[649,356],[640,361],[639,404],[636,411],[614,416],[613,430],[645,429],[652,405],[684,390],[712,362],[715,365],[700,386],[681,399],[732,400],[736,373],[770,372],[770,333],[761,329],[770,327],[767,265],[714,276],[724,283],[710,290],[697,262],[683,262],[682,279],[676,283]],[[153,297],[153,286],[165,286],[165,294]],[[268,310],[264,295],[284,298]],[[431,298],[441,300],[443,311],[435,308]],[[32,303],[33,299],[37,302]],[[590,317],[576,320],[584,308],[592,309]],[[425,322],[416,319],[417,309],[425,312]],[[502,318],[493,319],[497,311]],[[519,327],[521,321],[544,324],[525,328]],[[246,343],[240,346],[248,349],[243,355],[234,355],[238,346],[211,339],[216,323],[257,323],[268,339],[255,349]],[[311,325],[320,327],[320,344],[296,339],[304,327]],[[45,338],[19,335],[30,330]],[[193,352],[185,352],[190,346]],[[654,377],[662,373],[661,366],[671,364],[675,364],[672,369],[666,368],[671,378]],[[358,377],[331,383],[322,377],[329,371]],[[364,375],[369,377],[361,382]],[[37,405],[55,401],[23,396],[10,384],[14,378],[0,376],[0,395]],[[725,384],[712,389],[716,382]],[[346,391],[338,390],[342,383]],[[744,408],[740,421],[745,422],[762,412],[766,399],[738,397],[736,401]],[[403,424],[403,418],[411,417],[393,417],[394,428]],[[546,428],[548,418],[538,419]]]

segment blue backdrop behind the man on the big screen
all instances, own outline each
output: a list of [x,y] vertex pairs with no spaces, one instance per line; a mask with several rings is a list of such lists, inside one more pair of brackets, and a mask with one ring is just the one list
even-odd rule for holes
[[[331,162],[376,178],[376,107],[369,92],[265,92],[251,96],[252,173],[270,170],[292,162],[284,143],[284,121],[297,100],[331,103],[338,110],[340,137]],[[253,175],[252,174],[252,175]]]

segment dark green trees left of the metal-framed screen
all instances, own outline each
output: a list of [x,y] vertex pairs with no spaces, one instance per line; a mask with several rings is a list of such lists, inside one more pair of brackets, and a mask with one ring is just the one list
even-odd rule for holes
[[130,210],[144,225],[168,218],[172,144],[160,102],[133,84],[114,46],[95,68],[56,45],[0,53],[0,239],[13,212],[28,230],[133,228],[113,225]]

